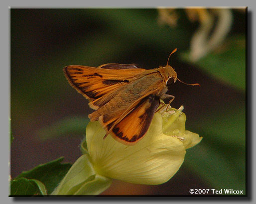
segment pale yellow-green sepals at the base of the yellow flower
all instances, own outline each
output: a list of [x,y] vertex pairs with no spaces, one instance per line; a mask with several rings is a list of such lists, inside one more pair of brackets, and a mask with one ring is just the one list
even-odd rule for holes
[[51,195],[99,195],[112,180],[97,174],[88,154],[82,155],[70,168]]

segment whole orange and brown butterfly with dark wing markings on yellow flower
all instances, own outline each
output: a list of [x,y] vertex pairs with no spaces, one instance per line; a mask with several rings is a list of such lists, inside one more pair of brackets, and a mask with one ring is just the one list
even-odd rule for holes
[[99,120],[106,130],[104,138],[111,134],[119,142],[133,145],[143,138],[155,112],[165,105],[160,99],[170,99],[170,104],[175,98],[166,94],[176,80],[180,81],[168,65],[169,58],[165,67],[151,70],[112,63],[97,68],[70,65],[63,72],[69,84],[89,100],[95,111],[88,116],[91,121]]

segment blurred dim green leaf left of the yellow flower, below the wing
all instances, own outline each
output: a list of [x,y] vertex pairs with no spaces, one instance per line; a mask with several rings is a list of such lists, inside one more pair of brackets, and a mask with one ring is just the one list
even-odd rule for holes
[[69,117],[40,129],[37,134],[42,140],[57,138],[62,135],[84,135],[86,125],[89,122],[87,117]]

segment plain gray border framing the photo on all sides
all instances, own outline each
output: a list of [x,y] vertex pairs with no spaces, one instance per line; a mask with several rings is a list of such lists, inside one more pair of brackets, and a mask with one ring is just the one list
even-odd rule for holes
[[[216,6],[216,4],[218,6],[227,6],[227,2],[225,1],[214,1],[214,4]],[[1,21],[1,29],[2,29],[2,32],[1,32],[1,59],[4,59],[2,60],[3,61],[3,66],[2,66],[2,71],[3,71],[3,74],[1,75],[1,80],[0,80],[0,83],[1,83],[1,86],[0,86],[0,93],[2,94],[3,93],[3,96],[2,96],[2,100],[1,100],[1,129],[3,129],[3,134],[2,134],[2,137],[1,139],[4,139],[4,142],[1,142],[1,161],[3,162],[3,165],[4,168],[1,168],[2,169],[2,172],[1,172],[1,176],[4,177],[3,179],[1,179],[0,181],[4,181],[4,182],[1,182],[1,192],[2,192],[2,199],[4,200],[4,203],[12,203],[12,202],[36,202],[36,201],[40,201],[40,202],[47,202],[47,203],[51,203],[51,202],[54,202],[54,201],[60,201],[60,202],[64,202],[67,203],[67,202],[74,202],[74,201],[81,201],[81,202],[93,202],[94,200],[97,201],[97,202],[106,202],[106,201],[115,201],[117,200],[118,202],[121,202],[121,201],[129,201],[129,199],[122,199],[122,198],[112,198],[111,200],[108,199],[108,198],[98,198],[98,199],[90,199],[90,198],[85,198],[85,199],[71,199],[71,198],[65,198],[65,199],[59,199],[59,198],[52,198],[52,199],[49,199],[49,198],[46,198],[45,201],[43,199],[37,199],[37,198],[34,198],[34,199],[13,199],[13,198],[8,198],[7,195],[8,195],[8,183],[7,183],[7,173],[5,172],[7,170],[6,168],[6,163],[8,162],[7,161],[7,158],[6,158],[6,152],[9,152],[9,138],[6,137],[6,135],[8,135],[9,133],[9,122],[8,122],[8,118],[9,118],[9,102],[10,102],[10,96],[9,96],[9,89],[10,89],[10,86],[9,86],[9,69],[6,69],[6,67],[10,67],[9,66],[9,9],[8,9],[8,6],[11,6],[11,7],[55,7],[55,8],[59,8],[59,7],[156,7],[156,6],[163,6],[163,5],[167,5],[167,6],[175,6],[175,7],[184,7],[185,5],[196,5],[196,6],[214,6],[213,4],[213,1],[208,1],[206,2],[205,0],[193,0],[191,2],[188,2],[187,0],[185,1],[170,1],[170,0],[157,0],[157,1],[144,1],[144,0],[141,0],[141,2],[139,2],[138,0],[136,1],[125,1],[125,2],[121,2],[119,0],[108,0],[108,1],[91,1],[91,2],[86,2],[86,1],[83,1],[83,0],[72,0],[72,1],[60,1],[60,0],[44,0],[43,2],[42,1],[33,1],[33,0],[23,0],[23,1],[17,1],[17,0],[10,0],[8,2],[4,2],[4,3],[1,3],[1,18],[0,18],[0,21]],[[250,140],[251,141],[251,145],[248,146],[248,148],[252,148],[251,151],[249,151],[249,153],[252,154],[251,156],[251,160],[250,161],[255,161],[253,156],[255,156],[255,146],[256,146],[256,139],[254,138],[254,133],[255,132],[255,121],[252,119],[254,119],[254,116],[256,115],[256,109],[253,107],[253,104],[256,103],[256,89],[252,89],[253,90],[253,93],[250,92],[251,89],[250,89],[250,85],[252,85],[252,88],[255,88],[256,86],[256,82],[254,81],[254,79],[256,79],[256,72],[255,70],[253,69],[254,68],[254,58],[255,58],[255,55],[254,55],[254,48],[255,48],[255,41],[253,39],[253,36],[255,35],[255,26],[254,25],[254,22],[255,22],[255,15],[254,15],[254,10],[255,10],[255,4],[253,3],[253,1],[249,1],[249,0],[244,0],[244,1],[241,1],[241,0],[234,0],[231,2],[232,4],[232,7],[234,6],[248,6],[248,11],[251,12],[251,22],[249,24],[249,26],[251,25],[252,28],[251,28],[251,33],[249,33],[249,35],[251,35],[251,39],[249,38],[250,42],[250,46],[249,46],[249,52],[248,52],[248,56],[251,56],[251,62],[249,63],[249,66],[251,66],[251,71],[248,72],[249,74],[249,78],[248,78],[248,92],[249,92],[249,95],[248,95],[248,102],[249,104],[251,104],[251,106],[248,107],[248,115],[249,115],[249,118],[248,118],[248,124],[252,125],[252,129],[248,131],[248,133],[252,135],[252,139]],[[250,49],[251,48],[251,49]],[[8,52],[7,52],[8,50]],[[7,86],[6,86],[7,85]],[[252,101],[251,101],[252,100]],[[250,108],[251,107],[251,108]],[[252,117],[250,117],[252,116]],[[3,128],[2,128],[3,127]],[[250,136],[250,135],[249,135]],[[9,157],[8,157],[8,160],[9,160]],[[252,181],[252,189],[251,189],[251,199],[248,200],[249,202],[253,202],[255,201],[255,196],[254,196],[254,193],[256,193],[256,190],[255,188],[253,188],[256,184],[256,178],[254,177],[253,175],[253,172],[256,171],[256,168],[255,168],[255,163],[251,164],[251,169],[249,169],[251,171],[251,176],[252,178],[249,178],[249,180]],[[8,170],[7,170],[8,171]],[[250,188],[250,186],[249,186]],[[7,198],[7,199],[6,199]],[[213,199],[209,199],[209,198],[187,198],[185,200],[183,199],[179,199],[179,198],[170,198],[170,199],[162,199],[162,198],[150,198],[150,199],[143,199],[143,198],[137,198],[137,199],[132,199],[132,202],[142,202],[142,201],[146,201],[146,202],[149,202],[149,201],[152,201],[152,202],[157,202],[157,201],[160,201],[160,200],[163,200],[163,201],[179,201],[179,200],[182,200],[182,202],[186,202],[186,201],[189,201],[189,202],[198,202],[200,200],[202,200],[203,202],[206,202],[208,200],[211,200],[213,201],[214,203],[218,202],[220,203],[220,201],[223,201],[225,202],[225,200],[220,200],[218,198],[213,198]],[[241,199],[235,199],[235,200],[232,200],[231,202],[234,202],[234,201],[238,201],[238,202],[243,202],[244,200],[241,200]]]

